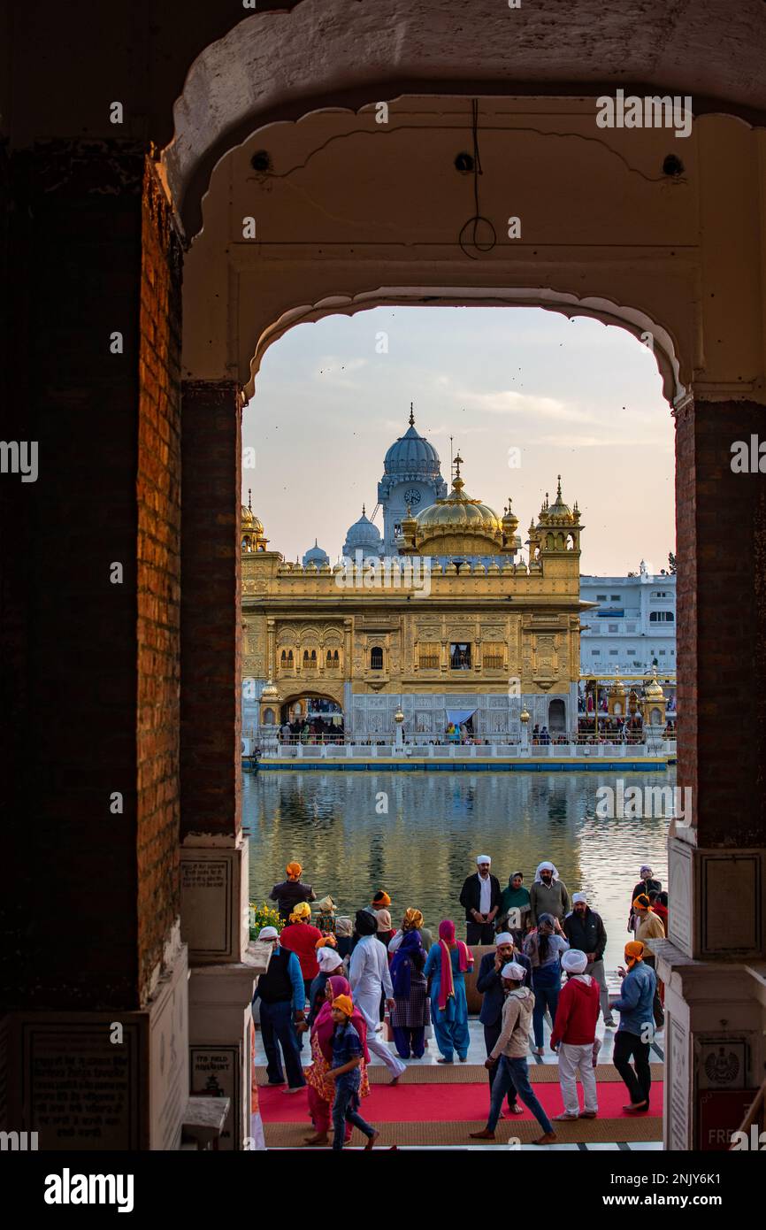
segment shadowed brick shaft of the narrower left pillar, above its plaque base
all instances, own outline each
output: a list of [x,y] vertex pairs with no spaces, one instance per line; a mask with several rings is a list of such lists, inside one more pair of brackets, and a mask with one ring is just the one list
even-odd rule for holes
[[181,835],[241,827],[241,399],[183,381]]

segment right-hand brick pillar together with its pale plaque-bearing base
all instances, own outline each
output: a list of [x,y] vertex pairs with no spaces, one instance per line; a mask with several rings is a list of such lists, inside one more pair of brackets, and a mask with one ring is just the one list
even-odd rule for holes
[[[755,472],[738,472],[738,442]],[[691,400],[676,411],[679,772],[692,823],[671,831],[669,938],[653,941],[665,983],[664,1141],[721,1148],[764,1079],[766,952],[766,412]],[[766,465],[766,461],[765,461]],[[679,951],[680,950],[680,951]]]

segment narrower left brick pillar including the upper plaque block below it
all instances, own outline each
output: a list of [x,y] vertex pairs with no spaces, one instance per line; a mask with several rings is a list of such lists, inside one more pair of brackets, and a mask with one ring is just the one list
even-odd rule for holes
[[239,961],[247,942],[241,834],[241,396],[183,383],[181,894],[192,963]]

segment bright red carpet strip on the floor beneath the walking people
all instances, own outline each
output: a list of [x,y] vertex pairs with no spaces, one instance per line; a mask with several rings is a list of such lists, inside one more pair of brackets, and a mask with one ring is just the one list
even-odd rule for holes
[[[546,1114],[555,1116],[563,1111],[558,1084],[535,1084],[535,1095]],[[579,1086],[578,1086],[579,1089]],[[599,1081],[599,1118],[633,1119],[625,1114],[622,1107],[628,1101],[622,1081]],[[583,1093],[579,1090],[580,1106]],[[305,1091],[301,1093],[283,1093],[274,1086],[262,1086],[258,1090],[261,1116],[264,1123],[309,1124],[309,1101]],[[663,1086],[660,1081],[652,1085],[652,1108],[646,1117],[659,1118],[663,1108]],[[467,1122],[486,1119],[489,1111],[489,1082],[480,1085],[374,1085],[370,1096],[361,1100],[361,1114],[371,1123],[436,1123]],[[513,1116],[516,1121],[534,1119],[525,1108],[524,1114]]]

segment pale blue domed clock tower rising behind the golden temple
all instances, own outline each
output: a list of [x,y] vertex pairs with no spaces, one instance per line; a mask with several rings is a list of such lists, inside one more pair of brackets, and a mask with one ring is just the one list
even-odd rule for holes
[[396,536],[407,508],[416,517],[446,496],[440,465],[433,444],[416,430],[411,402],[409,428],[386,453],[384,476],[377,483],[377,502],[384,513],[384,555],[398,554]]

